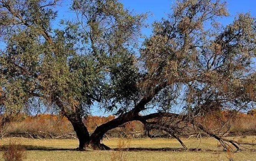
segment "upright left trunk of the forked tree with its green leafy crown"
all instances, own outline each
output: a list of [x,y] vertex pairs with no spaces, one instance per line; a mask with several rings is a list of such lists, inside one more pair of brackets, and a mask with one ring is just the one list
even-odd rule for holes
[[82,119],[101,99],[107,85],[105,71],[127,55],[145,15],[133,15],[116,0],[75,0],[71,9],[78,22],[61,21],[62,29],[56,29],[52,21],[59,4],[59,0],[0,1],[0,34],[6,45],[0,55],[2,106],[7,113],[42,100],[44,107],[60,110],[68,118],[82,150],[89,142]]

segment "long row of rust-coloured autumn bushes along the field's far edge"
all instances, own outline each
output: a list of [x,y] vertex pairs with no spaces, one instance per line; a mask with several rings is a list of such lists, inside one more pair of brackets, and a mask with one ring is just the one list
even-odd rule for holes
[[[115,116],[88,116],[83,120],[90,133],[92,133],[97,126],[104,124]],[[215,118],[215,119],[214,119]],[[223,114],[219,119],[216,116],[209,116],[204,119],[204,126],[208,129],[218,130],[221,128],[220,121],[225,121]],[[197,131],[188,129],[181,134],[189,137],[196,134]],[[226,136],[233,135],[251,135],[256,134],[256,114],[239,114],[232,123],[225,127],[229,129]],[[131,121],[123,126],[112,129],[106,133],[105,137],[149,137],[145,133],[144,125],[140,121]],[[66,117],[59,117],[52,114],[39,114],[37,116],[19,115],[8,127],[2,132],[2,137],[29,137],[29,138],[76,138],[75,131],[72,124]],[[169,137],[161,133],[161,131],[152,131],[151,137]]]

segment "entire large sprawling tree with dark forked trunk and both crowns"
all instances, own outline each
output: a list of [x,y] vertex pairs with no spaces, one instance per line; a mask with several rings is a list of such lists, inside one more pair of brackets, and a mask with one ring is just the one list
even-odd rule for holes
[[[117,0],[74,0],[77,21],[62,21],[59,29],[52,27],[56,5],[0,0],[2,100],[5,109],[23,109],[35,97],[56,107],[71,121],[80,150],[108,148],[101,144],[104,134],[129,121],[162,126],[152,121],[160,117],[220,139],[198,120],[255,104],[256,23],[250,14],[223,26],[217,20],[228,16],[226,3],[178,0],[140,47],[146,15]],[[82,117],[93,103],[116,118],[89,136]],[[164,127],[175,136],[175,127]]]

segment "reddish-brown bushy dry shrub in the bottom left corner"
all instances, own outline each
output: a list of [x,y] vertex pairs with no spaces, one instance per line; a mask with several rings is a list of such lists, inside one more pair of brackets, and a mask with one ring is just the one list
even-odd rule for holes
[[4,161],[23,161],[27,153],[20,144],[10,143],[6,150],[3,151]]

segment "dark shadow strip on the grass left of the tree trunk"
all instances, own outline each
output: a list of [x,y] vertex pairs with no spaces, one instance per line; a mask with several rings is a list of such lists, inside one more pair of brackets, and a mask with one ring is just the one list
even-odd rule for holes
[[[6,150],[8,145],[1,145],[0,151]],[[44,146],[33,146],[33,145],[22,145],[25,150],[38,150],[38,151],[75,151],[72,148],[54,148],[54,147],[44,147]]]

